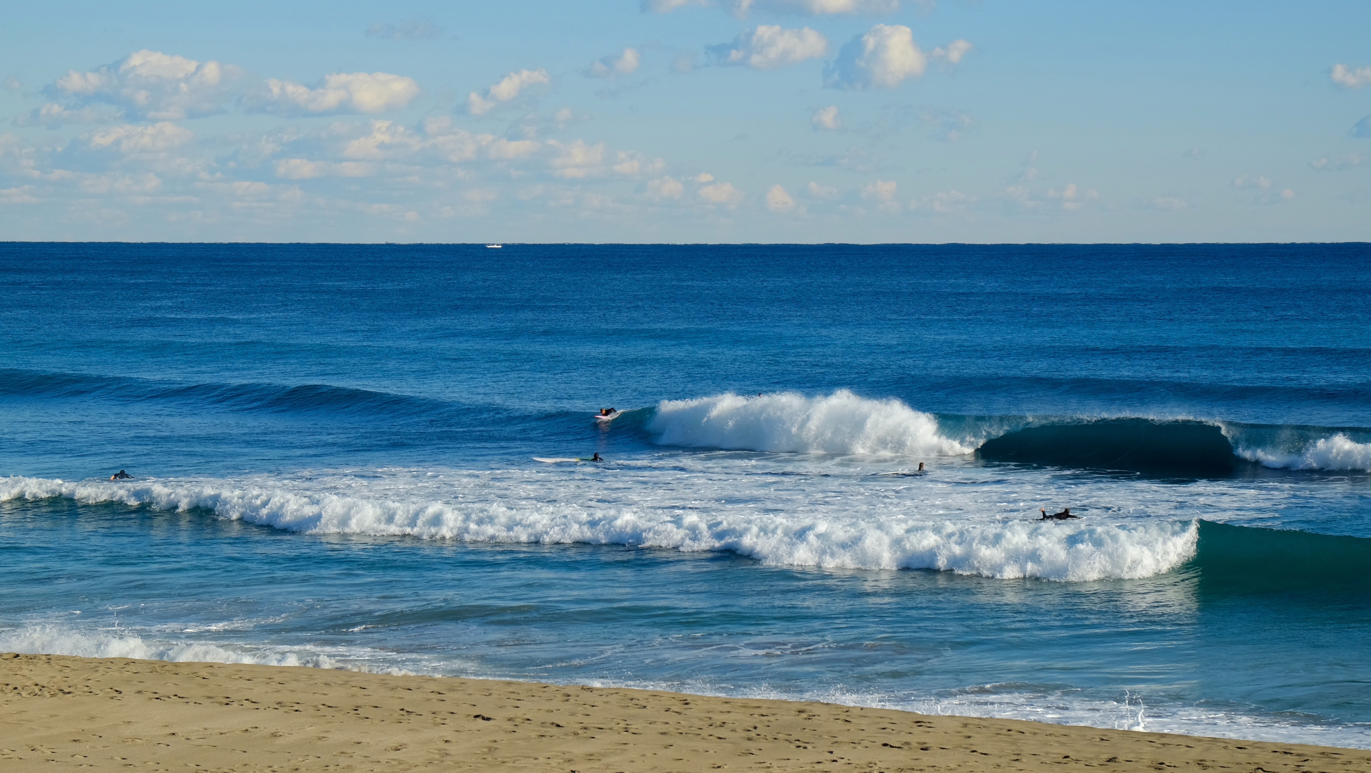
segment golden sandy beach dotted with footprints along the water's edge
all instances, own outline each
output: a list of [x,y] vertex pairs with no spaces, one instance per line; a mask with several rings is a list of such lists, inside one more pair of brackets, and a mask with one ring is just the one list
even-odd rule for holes
[[0,770],[1371,772],[1371,751],[352,672],[0,655]]

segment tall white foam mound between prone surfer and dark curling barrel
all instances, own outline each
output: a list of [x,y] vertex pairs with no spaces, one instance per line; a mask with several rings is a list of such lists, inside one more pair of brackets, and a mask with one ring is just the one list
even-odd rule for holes
[[895,456],[972,451],[939,434],[932,414],[895,399],[858,397],[847,389],[820,397],[798,392],[755,397],[728,392],[662,400],[647,428],[662,445],[694,448]]

